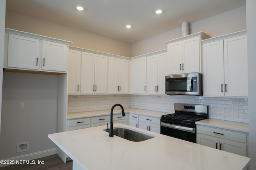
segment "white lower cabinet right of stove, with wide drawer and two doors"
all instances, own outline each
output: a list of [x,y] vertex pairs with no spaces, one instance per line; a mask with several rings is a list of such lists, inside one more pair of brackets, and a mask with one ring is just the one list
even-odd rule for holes
[[246,133],[197,125],[197,143],[247,156]]

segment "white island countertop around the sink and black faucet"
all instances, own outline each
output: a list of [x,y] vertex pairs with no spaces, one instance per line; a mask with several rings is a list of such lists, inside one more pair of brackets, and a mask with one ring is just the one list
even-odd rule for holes
[[138,129],[154,138],[132,142],[108,137],[106,126],[54,133],[48,137],[73,160],[73,170],[245,170],[250,158]]

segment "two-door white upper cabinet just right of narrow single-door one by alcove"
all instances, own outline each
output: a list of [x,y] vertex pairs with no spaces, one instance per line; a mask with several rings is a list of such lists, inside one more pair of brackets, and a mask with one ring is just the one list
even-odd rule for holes
[[81,94],[107,93],[107,56],[82,52]]

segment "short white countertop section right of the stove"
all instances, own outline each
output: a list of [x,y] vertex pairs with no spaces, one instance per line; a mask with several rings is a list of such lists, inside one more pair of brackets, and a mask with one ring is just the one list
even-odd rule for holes
[[204,120],[196,121],[196,124],[249,133],[248,123],[226,121],[226,120],[220,120],[220,119],[204,119]]

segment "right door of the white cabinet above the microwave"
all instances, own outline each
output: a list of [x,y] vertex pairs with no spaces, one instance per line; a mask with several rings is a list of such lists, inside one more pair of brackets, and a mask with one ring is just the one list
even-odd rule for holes
[[199,37],[182,41],[182,73],[200,71]]

